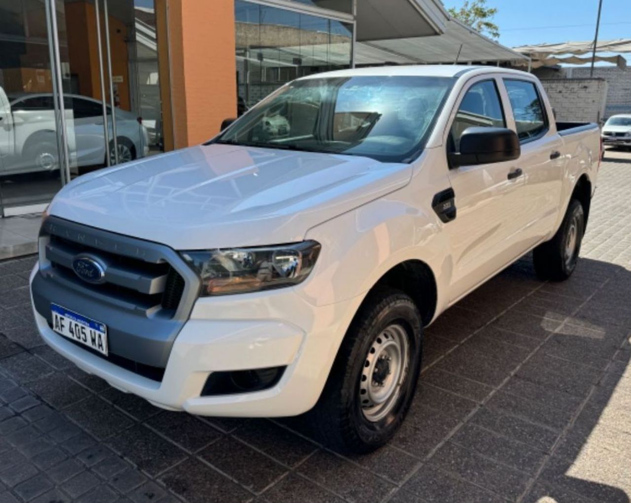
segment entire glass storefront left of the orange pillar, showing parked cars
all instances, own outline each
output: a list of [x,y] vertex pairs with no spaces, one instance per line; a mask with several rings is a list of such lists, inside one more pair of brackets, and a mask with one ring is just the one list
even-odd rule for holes
[[0,0],[0,211],[162,150],[153,0]]

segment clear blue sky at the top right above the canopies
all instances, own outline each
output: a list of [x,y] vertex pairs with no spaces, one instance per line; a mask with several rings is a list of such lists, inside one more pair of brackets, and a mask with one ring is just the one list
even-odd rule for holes
[[[459,8],[464,1],[443,3]],[[493,22],[508,47],[594,38],[598,0],[487,0],[487,6],[497,8]],[[598,38],[631,38],[631,0],[603,0]]]

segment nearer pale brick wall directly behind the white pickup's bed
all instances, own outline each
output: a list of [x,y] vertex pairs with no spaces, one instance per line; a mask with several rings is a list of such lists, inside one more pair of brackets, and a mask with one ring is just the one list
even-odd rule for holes
[[597,122],[603,120],[607,81],[594,79],[541,79],[555,109],[557,120]]

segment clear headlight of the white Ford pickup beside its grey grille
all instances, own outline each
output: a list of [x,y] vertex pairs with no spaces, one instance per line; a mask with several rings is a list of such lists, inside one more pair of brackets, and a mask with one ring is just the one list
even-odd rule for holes
[[305,280],[320,253],[320,243],[302,241],[264,248],[181,252],[202,281],[201,296],[257,292]]

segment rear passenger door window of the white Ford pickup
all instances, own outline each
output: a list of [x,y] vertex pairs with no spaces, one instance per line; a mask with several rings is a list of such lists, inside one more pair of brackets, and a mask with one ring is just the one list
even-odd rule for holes
[[509,93],[519,139],[527,140],[545,132],[548,129],[548,121],[534,83],[504,79],[504,84]]

